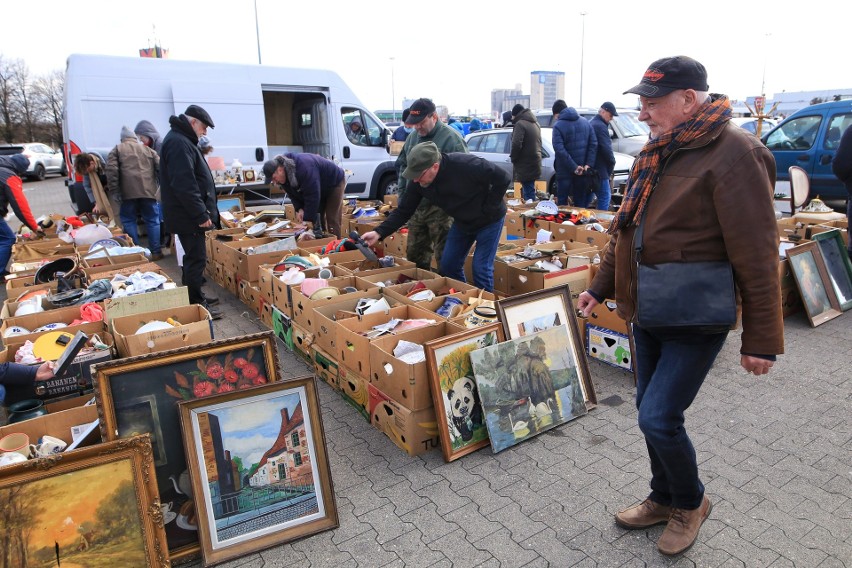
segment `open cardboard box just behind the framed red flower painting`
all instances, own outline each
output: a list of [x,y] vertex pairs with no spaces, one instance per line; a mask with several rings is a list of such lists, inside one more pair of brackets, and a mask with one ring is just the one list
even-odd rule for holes
[[[179,326],[137,334],[136,330],[149,321],[172,318]],[[192,304],[115,318],[111,322],[116,349],[121,357],[144,355],[189,345],[213,341],[213,320],[202,306]]]

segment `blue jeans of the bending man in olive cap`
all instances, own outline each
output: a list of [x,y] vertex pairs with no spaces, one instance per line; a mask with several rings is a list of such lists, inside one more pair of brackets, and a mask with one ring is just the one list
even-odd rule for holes
[[464,261],[470,247],[476,243],[473,251],[473,284],[486,292],[494,290],[494,257],[497,256],[497,245],[500,243],[500,233],[503,230],[503,219],[485,225],[476,232],[469,233],[453,223],[447,233],[447,244],[441,255],[442,276],[466,282],[464,278]]

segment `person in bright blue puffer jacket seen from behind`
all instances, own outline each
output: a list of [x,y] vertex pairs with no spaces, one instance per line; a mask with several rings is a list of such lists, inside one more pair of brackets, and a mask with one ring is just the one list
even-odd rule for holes
[[553,113],[559,113],[553,125],[553,150],[556,152],[556,203],[568,205],[572,196],[575,207],[589,204],[589,193],[579,179],[595,163],[598,141],[589,121],[581,117],[565,101],[553,103]]

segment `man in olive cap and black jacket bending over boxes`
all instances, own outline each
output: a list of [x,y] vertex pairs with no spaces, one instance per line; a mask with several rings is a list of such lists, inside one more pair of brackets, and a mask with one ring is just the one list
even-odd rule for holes
[[483,290],[494,289],[494,257],[506,216],[503,197],[512,182],[509,174],[479,156],[441,152],[434,142],[422,142],[408,154],[402,176],[411,182],[399,208],[384,223],[362,235],[372,246],[416,214],[423,200],[452,217],[440,272],[447,278],[465,281],[464,261],[473,253],[473,283]]

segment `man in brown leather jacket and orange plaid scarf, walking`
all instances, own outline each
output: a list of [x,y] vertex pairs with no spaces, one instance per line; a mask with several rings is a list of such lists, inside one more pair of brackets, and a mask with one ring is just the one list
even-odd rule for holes
[[708,91],[704,66],[685,56],[655,61],[627,91],[639,95],[639,120],[651,137],[631,172],[600,270],[578,300],[588,315],[614,297],[619,315],[633,323],[636,407],[651,462],[651,493],[615,520],[628,529],[665,523],[657,546],[669,555],[692,546],[710,514],[684,411],[728,332],[636,323],[637,224],[643,225],[643,263],[731,263],[742,299],[740,364],[747,373],[768,373],[784,351],[775,161],[760,141],[729,122],[727,97]]

